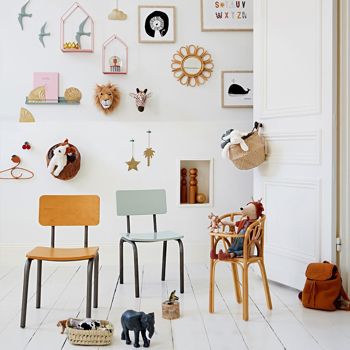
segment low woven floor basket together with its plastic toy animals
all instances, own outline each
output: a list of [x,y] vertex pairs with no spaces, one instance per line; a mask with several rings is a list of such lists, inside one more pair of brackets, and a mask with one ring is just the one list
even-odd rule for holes
[[[75,345],[108,345],[114,333],[114,327],[110,321],[91,318],[68,318],[66,329],[67,339]],[[61,333],[63,331],[64,329]]]

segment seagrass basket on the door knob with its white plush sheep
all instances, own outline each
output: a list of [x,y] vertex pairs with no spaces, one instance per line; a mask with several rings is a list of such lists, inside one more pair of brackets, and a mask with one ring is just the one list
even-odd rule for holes
[[[255,122],[250,133],[229,129],[221,139],[223,158],[228,158],[240,170],[248,170],[259,166],[265,160],[265,144],[259,136],[259,128],[263,124]],[[256,129],[254,131],[254,129]]]

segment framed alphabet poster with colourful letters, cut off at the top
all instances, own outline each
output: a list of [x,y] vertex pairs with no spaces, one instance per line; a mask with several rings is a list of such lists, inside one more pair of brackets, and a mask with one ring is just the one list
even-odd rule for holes
[[201,30],[253,30],[253,0],[201,0]]

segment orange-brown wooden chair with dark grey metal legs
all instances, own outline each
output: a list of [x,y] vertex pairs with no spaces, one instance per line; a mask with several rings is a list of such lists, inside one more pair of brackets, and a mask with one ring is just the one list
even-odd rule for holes
[[[26,327],[29,269],[37,260],[36,308],[40,308],[42,260],[79,261],[87,263],[86,318],[91,317],[92,267],[94,265],[93,307],[98,297],[98,249],[87,247],[87,226],[100,221],[100,198],[96,195],[41,196],[39,200],[39,223],[51,226],[51,247],[35,247],[26,256],[24,268],[21,327]],[[85,226],[84,248],[55,248],[55,226]]]

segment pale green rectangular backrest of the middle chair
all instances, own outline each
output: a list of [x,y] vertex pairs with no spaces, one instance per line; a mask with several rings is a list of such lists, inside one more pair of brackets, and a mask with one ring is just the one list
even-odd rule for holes
[[167,212],[165,190],[119,190],[117,215],[155,215]]

